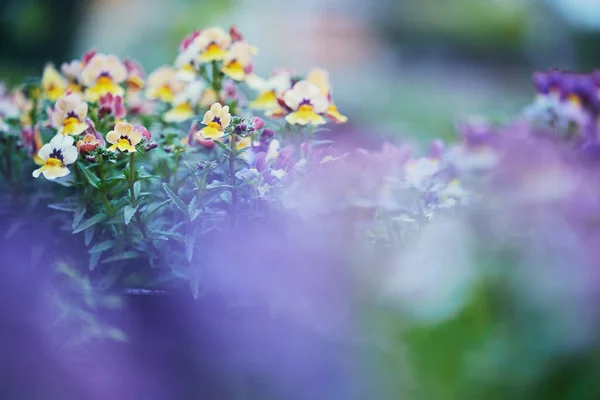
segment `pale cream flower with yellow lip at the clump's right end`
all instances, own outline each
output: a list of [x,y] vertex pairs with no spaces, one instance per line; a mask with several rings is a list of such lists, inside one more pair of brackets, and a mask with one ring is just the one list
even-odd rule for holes
[[283,100],[292,110],[292,113],[285,117],[288,123],[292,125],[325,123],[325,119],[319,114],[327,110],[329,102],[318,86],[308,81],[300,81],[291,90],[285,92]]

